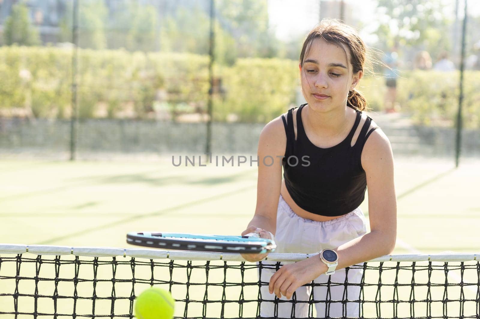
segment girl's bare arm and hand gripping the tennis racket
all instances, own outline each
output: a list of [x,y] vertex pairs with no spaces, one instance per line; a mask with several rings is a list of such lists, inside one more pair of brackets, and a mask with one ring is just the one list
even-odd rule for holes
[[[255,215],[241,234],[259,233],[263,238],[270,236],[265,232],[276,231],[276,211],[282,183],[282,160],[287,146],[287,137],[281,117],[265,125],[258,141],[258,180],[257,205]],[[273,163],[272,163],[273,162]],[[267,254],[242,254],[249,262],[265,258]]]

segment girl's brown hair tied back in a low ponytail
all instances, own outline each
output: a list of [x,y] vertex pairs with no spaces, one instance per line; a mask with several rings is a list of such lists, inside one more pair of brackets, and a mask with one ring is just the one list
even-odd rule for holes
[[[340,22],[339,20],[333,19],[323,19],[307,35],[300,53],[300,65],[302,66],[302,69],[303,60],[310,51],[315,39],[324,39],[326,42],[339,45],[342,48],[344,46],[348,47],[353,73],[363,71],[366,57],[365,44],[354,28]],[[347,54],[347,52],[345,52],[345,54]],[[367,101],[360,91],[353,89],[348,91],[347,105],[351,108],[363,111],[367,107]]]

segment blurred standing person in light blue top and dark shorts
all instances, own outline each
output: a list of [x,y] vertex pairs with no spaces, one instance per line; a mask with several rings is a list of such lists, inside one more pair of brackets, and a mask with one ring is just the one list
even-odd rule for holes
[[395,44],[390,52],[385,55],[384,63],[386,65],[384,77],[387,91],[385,93],[385,112],[394,113],[400,110],[400,106],[396,103],[396,82],[398,79],[398,45]]

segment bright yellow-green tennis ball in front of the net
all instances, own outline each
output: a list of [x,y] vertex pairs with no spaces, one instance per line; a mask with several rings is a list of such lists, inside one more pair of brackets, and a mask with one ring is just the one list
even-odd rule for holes
[[140,319],[172,319],[175,299],[166,290],[149,288],[137,297],[135,316]]

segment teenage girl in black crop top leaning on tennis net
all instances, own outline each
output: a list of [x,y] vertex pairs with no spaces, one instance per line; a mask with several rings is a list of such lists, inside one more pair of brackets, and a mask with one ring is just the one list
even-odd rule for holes
[[[312,280],[324,283],[313,288],[314,299],[325,301],[315,303],[319,317],[358,317],[359,302],[347,300],[359,300],[360,285],[344,283],[360,283],[362,270],[346,272],[345,267],[395,247],[392,149],[384,132],[362,112],[366,101],[356,90],[365,57],[365,45],[352,27],[322,21],[300,54],[307,103],[270,121],[260,134],[257,204],[242,235],[275,234],[278,253],[318,253],[278,271],[263,268],[261,280],[269,285],[261,288],[262,317],[290,318],[293,304],[296,318],[307,317],[311,286],[302,285]],[[276,159],[273,165],[271,158]],[[359,208],[367,188],[369,233]],[[266,254],[243,257],[258,262]],[[273,302],[273,294],[287,300],[294,292],[296,303]]]

